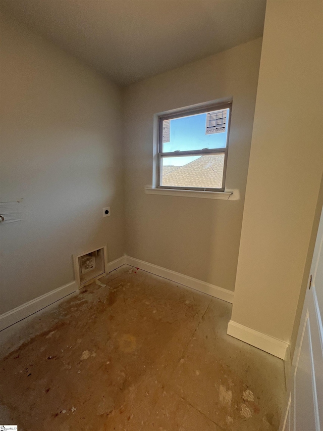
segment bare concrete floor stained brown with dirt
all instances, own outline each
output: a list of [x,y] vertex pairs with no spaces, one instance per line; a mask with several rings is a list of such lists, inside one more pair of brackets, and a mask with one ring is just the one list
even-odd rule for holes
[[0,332],[19,431],[277,430],[284,364],[227,335],[232,305],[123,266]]

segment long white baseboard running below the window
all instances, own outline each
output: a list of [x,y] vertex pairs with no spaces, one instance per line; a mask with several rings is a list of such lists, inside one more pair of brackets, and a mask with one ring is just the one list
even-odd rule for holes
[[125,263],[233,304],[234,293],[227,289],[219,288],[205,281],[197,280],[188,275],[180,274],[179,272],[171,271],[170,269],[153,265],[152,263],[144,262],[143,260],[135,259],[130,256],[125,256]]

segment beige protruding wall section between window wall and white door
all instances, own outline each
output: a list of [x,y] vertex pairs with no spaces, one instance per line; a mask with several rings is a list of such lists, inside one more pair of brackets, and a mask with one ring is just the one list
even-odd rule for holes
[[267,0],[232,320],[289,342],[323,170],[322,3]]

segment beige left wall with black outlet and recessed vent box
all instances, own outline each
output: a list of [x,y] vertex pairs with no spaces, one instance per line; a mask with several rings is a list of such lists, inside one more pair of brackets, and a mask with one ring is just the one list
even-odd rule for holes
[[72,281],[73,253],[124,253],[120,90],[8,17],[1,33],[0,200],[23,220],[0,226],[0,314]]

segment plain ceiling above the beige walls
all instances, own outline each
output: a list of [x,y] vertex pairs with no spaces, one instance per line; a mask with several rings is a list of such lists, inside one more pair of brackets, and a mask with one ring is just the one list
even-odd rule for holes
[[265,0],[1,0],[2,9],[129,84],[262,35]]

